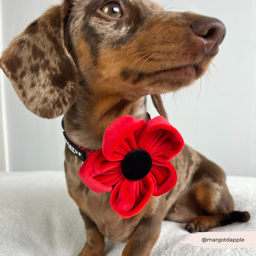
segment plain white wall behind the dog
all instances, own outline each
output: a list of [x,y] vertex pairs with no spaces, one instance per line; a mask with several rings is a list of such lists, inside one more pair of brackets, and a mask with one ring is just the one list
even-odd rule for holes
[[[2,50],[54,2],[1,1]],[[175,1],[167,7],[182,9],[172,11],[219,18],[227,34],[214,60],[218,70],[211,66],[212,76],[208,74],[201,86],[199,81],[185,94],[165,96],[170,122],[188,145],[220,165],[226,174],[256,176],[256,1]],[[165,5],[168,0],[158,2]],[[63,170],[61,118],[46,120],[33,115],[6,77],[2,86],[6,170]],[[151,116],[156,116],[153,104],[148,104]]]

